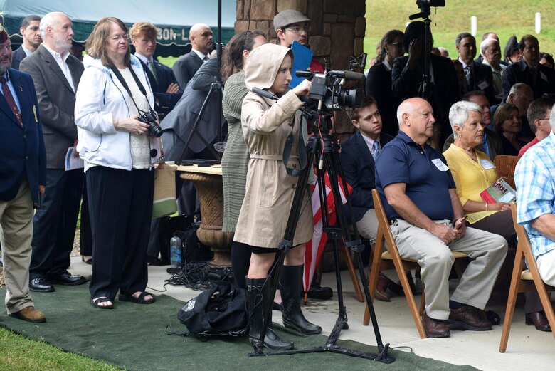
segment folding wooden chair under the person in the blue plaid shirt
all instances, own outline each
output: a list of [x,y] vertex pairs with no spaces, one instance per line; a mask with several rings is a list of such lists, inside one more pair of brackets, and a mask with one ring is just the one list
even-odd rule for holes
[[[517,231],[519,243],[517,244],[517,255],[514,258],[509,298],[507,299],[507,310],[505,310],[501,344],[499,345],[499,352],[502,353],[507,350],[509,332],[511,331],[512,318],[514,315],[514,305],[517,302],[518,293],[524,293],[526,291],[538,292],[541,305],[544,306],[547,321],[551,326],[551,333],[555,338],[555,314],[549,296],[547,296],[547,292],[555,291],[555,287],[546,285],[539,276],[538,266],[536,266],[536,259],[534,258],[534,254],[532,254],[532,246],[530,246],[530,240],[528,239],[526,229],[524,229],[524,226],[517,223],[517,204],[511,204],[511,212],[512,222],[514,224],[514,229]],[[523,257],[526,259],[529,269],[524,269]]]

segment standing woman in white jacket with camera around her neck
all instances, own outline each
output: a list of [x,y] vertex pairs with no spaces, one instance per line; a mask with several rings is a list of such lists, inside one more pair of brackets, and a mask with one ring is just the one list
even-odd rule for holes
[[152,303],[154,296],[144,289],[159,140],[137,120],[140,111],[152,111],[152,90],[129,53],[127,27],[120,19],[100,19],[86,51],[75,123],[93,229],[91,304],[114,308],[118,290],[120,301]]

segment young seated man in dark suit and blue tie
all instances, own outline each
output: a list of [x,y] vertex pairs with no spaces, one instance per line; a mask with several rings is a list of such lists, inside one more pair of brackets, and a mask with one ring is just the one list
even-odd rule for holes
[[[347,115],[357,130],[342,143],[339,159],[345,181],[353,188],[351,204],[356,228],[361,236],[369,239],[374,245],[378,233],[378,219],[372,199],[372,189],[376,188],[374,161],[381,148],[393,137],[381,132],[381,116],[374,98],[364,97],[361,107],[355,110],[348,108]],[[394,274],[393,272],[391,278],[395,277]],[[390,283],[386,276],[379,276],[376,287],[377,299],[390,301],[387,293]]]

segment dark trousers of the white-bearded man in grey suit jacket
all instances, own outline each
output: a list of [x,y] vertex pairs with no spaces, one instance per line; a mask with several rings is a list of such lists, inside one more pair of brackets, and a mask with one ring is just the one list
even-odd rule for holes
[[31,280],[68,270],[82,192],[83,170],[46,169],[46,191],[33,219]]

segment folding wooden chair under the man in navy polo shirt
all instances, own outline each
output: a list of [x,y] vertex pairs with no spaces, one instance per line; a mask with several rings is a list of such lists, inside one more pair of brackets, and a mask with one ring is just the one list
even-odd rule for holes
[[[376,216],[378,217],[378,234],[376,236],[376,246],[374,248],[372,263],[369,267],[370,279],[368,288],[371,299],[374,301],[379,272],[395,268],[399,276],[399,280],[401,281],[401,287],[403,287],[403,292],[405,293],[408,308],[411,310],[414,323],[418,329],[418,334],[421,338],[427,338],[421,318],[421,315],[424,312],[425,296],[424,293],[422,293],[420,308],[417,308],[411,284],[409,283],[407,277],[408,271],[411,269],[420,269],[420,266],[416,261],[401,258],[397,250],[395,239],[393,239],[393,234],[391,234],[391,227],[389,225],[386,212],[384,211],[384,205],[381,204],[379,192],[376,189],[372,190],[372,198],[374,199],[374,209],[376,210]],[[384,251],[384,241],[388,246],[388,251]],[[467,254],[460,253],[458,251],[453,251],[453,256],[455,259],[467,258]],[[455,265],[455,271],[457,271],[459,277],[462,275],[462,270],[457,265]],[[362,323],[364,325],[368,325],[370,323],[370,313],[368,307],[364,310],[364,320]]]

